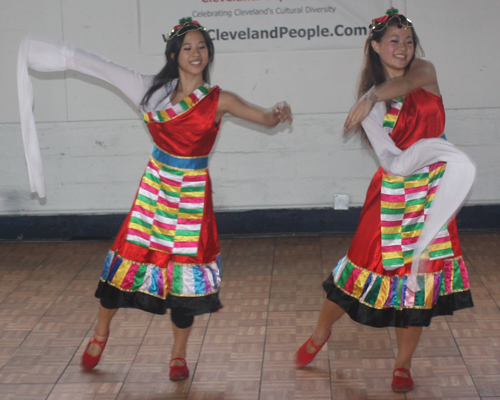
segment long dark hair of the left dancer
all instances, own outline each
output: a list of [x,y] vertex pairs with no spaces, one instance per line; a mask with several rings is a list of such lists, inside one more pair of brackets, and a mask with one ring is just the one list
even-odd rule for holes
[[210,67],[214,60],[214,44],[206,30],[198,29],[196,26],[188,24],[187,26],[182,27],[178,34],[167,42],[167,47],[165,49],[166,64],[162,68],[162,70],[155,75],[153,84],[142,98],[142,107],[146,107],[154,93],[162,87],[165,87],[166,93],[165,96],[163,96],[158,101],[158,103],[165,100],[172,94],[172,92],[175,91],[176,88],[173,87],[172,82],[175,79],[179,78],[179,64],[177,63],[177,58],[179,57],[179,53],[181,52],[186,33],[192,30],[198,30],[198,32],[203,35],[203,39],[205,40],[205,44],[207,45],[208,63],[203,70],[203,81],[206,83],[210,83]]

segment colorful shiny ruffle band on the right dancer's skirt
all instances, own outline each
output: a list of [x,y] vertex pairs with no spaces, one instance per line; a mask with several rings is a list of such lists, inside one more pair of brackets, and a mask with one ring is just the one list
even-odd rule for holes
[[383,276],[341,259],[333,270],[333,281],[344,293],[375,309],[431,309],[440,296],[469,290],[469,278],[462,257],[444,260],[442,271],[418,274],[421,288],[414,293],[407,288],[405,276]]

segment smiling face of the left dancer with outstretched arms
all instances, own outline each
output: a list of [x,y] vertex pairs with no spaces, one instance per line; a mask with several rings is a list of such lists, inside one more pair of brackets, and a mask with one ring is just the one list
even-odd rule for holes
[[181,51],[177,57],[179,73],[198,75],[208,64],[208,48],[205,38],[198,31],[189,31],[184,35]]

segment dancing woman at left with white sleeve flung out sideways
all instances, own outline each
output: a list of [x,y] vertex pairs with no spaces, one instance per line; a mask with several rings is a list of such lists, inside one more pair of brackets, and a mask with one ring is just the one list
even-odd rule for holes
[[106,258],[96,291],[100,307],[95,333],[81,365],[87,371],[97,365],[119,308],[154,314],[170,309],[170,379],[183,380],[189,376],[185,357],[194,316],[222,307],[219,242],[207,169],[221,119],[230,113],[272,127],[291,123],[292,114],[286,102],[263,109],[211,86],[214,46],[198,22],[181,20],[165,39],[166,64],[155,76],[72,46],[26,39],[19,53],[18,84],[30,184],[40,197],[45,190],[27,66],[38,71],[72,69],[100,78],[120,89],[142,113],[153,152]]

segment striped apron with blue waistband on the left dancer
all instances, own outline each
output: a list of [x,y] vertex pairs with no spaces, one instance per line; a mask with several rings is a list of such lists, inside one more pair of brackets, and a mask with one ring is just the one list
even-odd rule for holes
[[196,256],[208,177],[205,164],[155,148],[132,208],[127,241],[165,253]]

